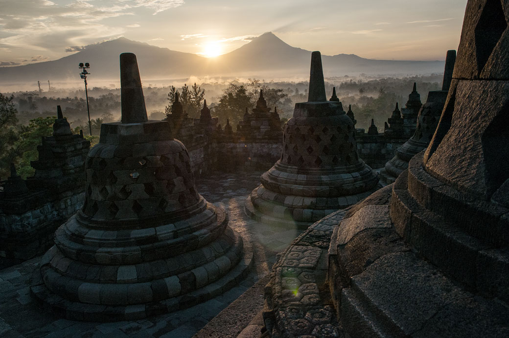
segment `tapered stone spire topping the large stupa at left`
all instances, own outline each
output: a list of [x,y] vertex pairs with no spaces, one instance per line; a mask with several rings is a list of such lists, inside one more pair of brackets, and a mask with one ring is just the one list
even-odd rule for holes
[[138,63],[133,53],[120,54],[120,86],[122,123],[147,122],[147,108],[139,78]]

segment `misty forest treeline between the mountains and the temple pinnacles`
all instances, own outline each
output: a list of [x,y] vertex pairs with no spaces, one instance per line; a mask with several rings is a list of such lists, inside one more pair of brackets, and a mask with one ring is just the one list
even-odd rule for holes
[[[371,119],[380,129],[390,117],[395,103],[404,106],[413,82],[417,82],[417,91],[424,103],[427,94],[441,88],[442,75],[417,76],[407,78],[328,78],[325,82],[327,96],[336,87],[337,96],[343,102],[345,110],[352,105],[357,128],[369,127]],[[207,103],[212,115],[219,117],[224,126],[227,119],[235,126],[242,120],[245,109],[251,112],[256,106],[260,90],[264,92],[267,106],[277,111],[282,121],[292,117],[295,103],[307,101],[306,81],[264,81],[247,79],[222,83],[194,83],[175,87],[144,88],[145,102],[149,119],[162,120],[171,113],[175,93],[179,92],[184,110],[189,117],[197,118]],[[51,95],[50,95],[51,94]],[[98,135],[102,123],[120,120],[120,90],[112,88],[92,88],[89,91],[92,134]],[[87,102],[84,91],[17,92],[2,94],[0,102],[0,178],[6,177],[9,162],[20,165],[21,173],[30,174],[30,160],[37,158],[37,145],[41,136],[51,135],[51,126],[56,115],[56,106],[60,105],[64,116],[72,128],[89,134]]]

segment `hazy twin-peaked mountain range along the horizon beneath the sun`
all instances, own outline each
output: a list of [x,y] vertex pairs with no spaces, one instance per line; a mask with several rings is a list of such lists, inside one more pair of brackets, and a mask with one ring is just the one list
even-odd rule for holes
[[[216,58],[203,58],[119,38],[95,45],[59,60],[16,67],[0,67],[0,85],[34,83],[38,79],[76,82],[78,64],[89,62],[97,80],[119,79],[119,54],[133,52],[145,81],[172,80],[195,76],[264,76],[295,78],[307,76],[311,52],[292,47],[273,33],[265,33],[242,47]],[[354,54],[322,55],[325,76],[366,74],[427,74],[443,72],[444,61],[385,61],[363,59]],[[79,80],[79,78],[78,78]]]

